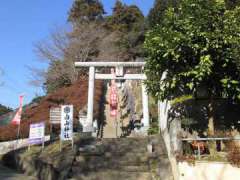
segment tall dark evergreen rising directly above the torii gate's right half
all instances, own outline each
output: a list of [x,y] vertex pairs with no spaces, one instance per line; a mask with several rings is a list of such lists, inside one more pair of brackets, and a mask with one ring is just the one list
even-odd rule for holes
[[143,56],[145,18],[136,5],[127,6],[116,1],[111,16],[106,18],[106,27],[111,32],[118,32],[117,46],[121,51],[121,59],[132,60]]

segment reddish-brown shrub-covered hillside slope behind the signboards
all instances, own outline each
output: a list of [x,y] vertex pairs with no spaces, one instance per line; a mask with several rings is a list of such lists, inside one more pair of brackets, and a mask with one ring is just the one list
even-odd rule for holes
[[[102,96],[102,81],[95,82],[94,115],[98,116],[99,102]],[[34,122],[45,121],[46,133],[49,132],[49,110],[61,104],[74,106],[74,121],[78,120],[78,112],[86,107],[88,97],[88,80],[79,80],[69,87],[64,87],[44,97],[40,103],[27,106],[23,112],[20,137],[28,137],[29,125]],[[16,139],[17,126],[8,124],[0,127],[0,141]]]

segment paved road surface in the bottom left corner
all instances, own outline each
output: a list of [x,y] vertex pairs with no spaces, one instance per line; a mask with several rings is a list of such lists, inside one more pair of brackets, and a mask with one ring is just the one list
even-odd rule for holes
[[29,177],[20,174],[12,169],[6,168],[0,164],[0,179],[1,180],[36,180],[37,178]]

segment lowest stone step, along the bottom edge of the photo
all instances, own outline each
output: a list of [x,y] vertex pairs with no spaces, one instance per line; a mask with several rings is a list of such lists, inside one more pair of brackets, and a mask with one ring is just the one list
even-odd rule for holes
[[86,174],[79,174],[72,180],[151,180],[151,173],[147,172],[126,172],[126,171],[99,171]]

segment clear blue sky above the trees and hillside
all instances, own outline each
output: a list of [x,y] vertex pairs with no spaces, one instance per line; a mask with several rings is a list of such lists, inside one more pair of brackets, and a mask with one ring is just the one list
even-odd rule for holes
[[[27,66],[46,68],[34,53],[34,43],[46,39],[55,27],[66,24],[73,0],[3,0],[0,5],[0,103],[16,108],[18,96],[26,95],[25,103],[41,88],[29,85],[31,73]],[[111,12],[115,0],[103,0],[105,11]],[[146,15],[154,0],[123,0],[136,4]]]

